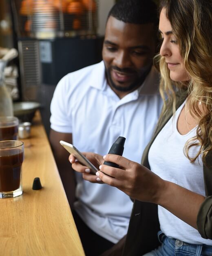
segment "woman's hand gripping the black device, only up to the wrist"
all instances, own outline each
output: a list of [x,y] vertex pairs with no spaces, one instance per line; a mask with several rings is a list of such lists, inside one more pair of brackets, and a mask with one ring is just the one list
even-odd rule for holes
[[[104,164],[96,175],[106,184],[115,186],[133,199],[157,203],[159,193],[166,182],[148,168],[119,155],[106,155],[104,160],[116,163],[120,168]],[[110,177],[110,176],[112,177]]]

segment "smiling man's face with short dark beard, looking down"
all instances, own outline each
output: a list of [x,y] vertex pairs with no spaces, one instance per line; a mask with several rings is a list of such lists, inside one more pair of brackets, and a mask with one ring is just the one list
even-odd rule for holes
[[102,57],[113,90],[131,92],[141,85],[155,55],[155,38],[152,23],[132,24],[109,17]]

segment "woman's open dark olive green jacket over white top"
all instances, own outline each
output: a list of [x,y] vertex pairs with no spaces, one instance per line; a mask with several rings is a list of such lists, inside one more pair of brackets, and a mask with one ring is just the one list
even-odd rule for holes
[[[186,92],[176,95],[176,109],[181,106],[186,99]],[[142,164],[150,169],[148,163],[148,152],[152,142],[155,140],[163,126],[172,117],[172,109],[167,110],[155,129],[155,133],[146,147]],[[207,165],[212,166],[212,154],[208,155]],[[198,213],[197,226],[198,231],[203,238],[212,239],[212,168],[203,166],[205,180],[206,198]],[[130,225],[126,237],[123,256],[141,256],[159,246],[157,231],[160,230],[157,205],[152,203],[140,202],[135,200]]]

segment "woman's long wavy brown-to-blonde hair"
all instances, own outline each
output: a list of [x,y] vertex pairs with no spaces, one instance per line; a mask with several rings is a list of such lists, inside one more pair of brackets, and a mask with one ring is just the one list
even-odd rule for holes
[[[164,101],[162,115],[170,104],[175,112],[176,87],[178,90],[188,88],[189,111],[198,117],[199,124],[197,135],[186,142],[184,152],[192,163],[201,156],[206,164],[206,157],[212,150],[212,1],[163,0],[161,9],[163,7],[177,38],[190,81],[187,84],[173,82],[165,58],[156,56],[155,61],[158,61],[161,73],[160,92]],[[199,108],[200,104],[204,106],[204,113]],[[197,155],[190,157],[189,149],[197,145],[200,145]]]

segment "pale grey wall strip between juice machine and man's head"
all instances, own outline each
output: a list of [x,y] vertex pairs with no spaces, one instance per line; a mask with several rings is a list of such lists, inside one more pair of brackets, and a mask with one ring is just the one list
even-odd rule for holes
[[115,3],[115,0],[99,0],[98,5],[98,34],[104,35],[106,19],[110,8]]

